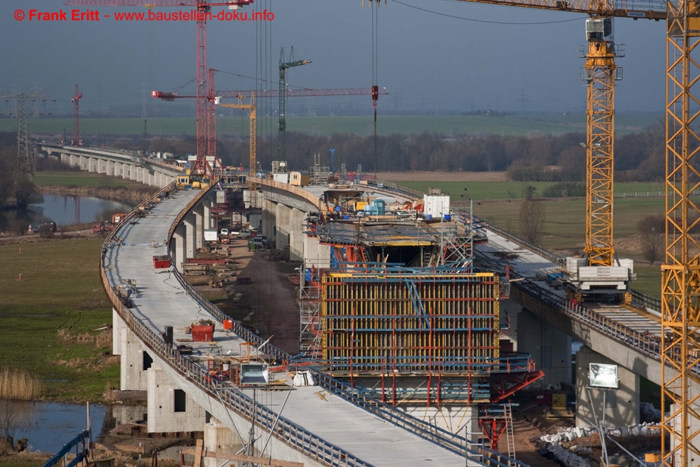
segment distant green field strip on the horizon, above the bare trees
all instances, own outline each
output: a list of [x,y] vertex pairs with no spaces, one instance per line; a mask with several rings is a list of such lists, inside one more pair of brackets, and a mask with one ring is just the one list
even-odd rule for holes
[[[659,116],[651,113],[618,114],[615,117],[615,132],[626,134],[639,132],[659,121]],[[264,118],[258,118],[258,134],[265,131]],[[288,117],[289,132],[304,132],[330,136],[337,132],[357,133],[366,137],[374,134],[374,118],[362,117]],[[268,128],[276,129],[276,119],[270,119]],[[64,131],[73,128],[72,118],[29,118],[29,133],[61,139]],[[0,119],[0,131],[14,132],[17,120]],[[83,139],[102,135],[141,135],[144,120],[141,118],[80,118]],[[219,117],[216,122],[219,137],[248,135],[248,119],[245,117]],[[148,118],[150,137],[195,134],[195,118]],[[377,134],[392,133],[420,134],[437,132],[445,135],[457,134],[498,134],[502,136],[531,136],[533,134],[552,135],[570,132],[584,133],[586,116],[583,114],[542,114],[526,116],[379,116]],[[276,134],[276,130],[272,130]]]

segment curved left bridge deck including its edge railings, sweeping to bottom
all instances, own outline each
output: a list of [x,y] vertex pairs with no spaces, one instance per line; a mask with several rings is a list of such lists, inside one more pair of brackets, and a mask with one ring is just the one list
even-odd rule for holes
[[[183,356],[165,344],[162,338],[165,326],[173,326],[177,342],[191,338],[185,329],[200,318],[218,323],[214,339],[226,356],[244,358],[246,346],[241,344],[255,341],[255,336],[246,335],[243,328],[235,328],[235,333],[223,333],[221,320],[224,316],[217,313],[213,305],[189,289],[172,267],[155,269],[153,265],[153,256],[167,254],[164,239],[169,239],[181,213],[191,209],[200,193],[196,190],[175,192],[155,204],[145,218],[127,217],[112,232],[103,250],[103,282],[116,312],[167,375],[234,431],[247,433],[250,426],[245,430],[234,426],[231,414],[247,420],[255,414],[261,431],[274,432],[273,448],[280,442],[294,447],[303,453],[297,459],[306,462],[305,465],[464,465],[464,438],[430,429],[428,424],[370,402],[342,384],[324,379],[319,373],[316,376],[321,387],[290,386],[286,391],[265,391],[262,396],[258,390],[258,400],[264,402],[255,404],[251,389],[213,381],[207,375],[207,368],[197,354],[206,356],[209,353],[208,342],[193,342],[193,356]],[[125,279],[135,281],[137,287],[130,308],[121,305],[114,293]],[[263,345],[261,351],[278,359],[286,358],[283,352],[269,345]],[[270,379],[286,379],[286,374],[279,373]],[[286,396],[289,397],[285,401]],[[281,417],[275,424],[280,410]],[[262,434],[264,439],[265,433]],[[259,443],[256,447],[262,445],[262,441]],[[279,452],[273,449],[272,454],[279,455]],[[486,461],[486,456],[491,459]],[[482,462],[491,466],[509,465],[507,459],[482,448],[470,447],[469,457],[469,465],[486,465]]]

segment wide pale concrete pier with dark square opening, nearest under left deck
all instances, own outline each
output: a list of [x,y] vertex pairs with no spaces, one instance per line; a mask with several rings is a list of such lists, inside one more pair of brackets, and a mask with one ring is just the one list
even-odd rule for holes
[[202,431],[207,412],[163,372],[148,370],[148,433]]

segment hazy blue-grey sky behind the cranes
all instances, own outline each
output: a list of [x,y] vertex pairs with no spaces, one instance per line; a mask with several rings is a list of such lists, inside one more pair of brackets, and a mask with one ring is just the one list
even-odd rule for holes
[[[380,113],[382,108],[585,112],[586,88],[579,77],[585,15],[456,0],[388,0],[376,12],[373,60],[372,11],[366,5],[362,0],[255,0],[242,11],[267,10],[274,19],[208,22],[207,67],[221,70],[216,88],[255,89],[258,76],[276,89],[280,49],[293,46],[297,57],[312,63],[288,71],[291,87],[370,88],[375,61],[376,84],[389,92],[379,98]],[[25,14],[22,21],[15,19],[18,10]],[[64,11],[67,20],[29,20],[30,10]],[[72,10],[97,11],[100,20],[72,21]],[[113,104],[140,109],[144,90],[174,90],[195,78],[195,22],[114,18],[115,13],[132,11],[146,10],[66,6],[57,0],[1,1],[0,90],[43,89],[57,99],[52,112],[71,113],[78,84],[81,110]],[[617,113],[663,116],[664,22],[617,19],[615,42],[625,50],[617,59],[624,76],[615,90]],[[193,94],[195,88],[181,92]],[[372,109],[370,97],[347,99]],[[293,103],[288,107],[293,109]]]

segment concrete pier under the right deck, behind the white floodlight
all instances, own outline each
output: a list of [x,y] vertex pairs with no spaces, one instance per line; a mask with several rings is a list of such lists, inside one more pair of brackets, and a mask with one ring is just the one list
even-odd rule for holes
[[[622,366],[617,366],[619,389],[603,391],[587,389],[589,363],[615,364],[610,358],[588,347],[581,347],[576,354],[576,426],[590,426],[603,417],[603,393],[605,393],[605,426],[629,426],[639,423],[639,376]],[[591,400],[593,401],[591,406]]]

